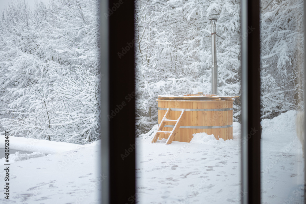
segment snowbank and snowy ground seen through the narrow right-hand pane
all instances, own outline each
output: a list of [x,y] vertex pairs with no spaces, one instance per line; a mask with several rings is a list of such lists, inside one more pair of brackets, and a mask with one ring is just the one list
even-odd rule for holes
[[302,203],[304,162],[295,132],[296,113],[290,110],[262,121],[263,203]]

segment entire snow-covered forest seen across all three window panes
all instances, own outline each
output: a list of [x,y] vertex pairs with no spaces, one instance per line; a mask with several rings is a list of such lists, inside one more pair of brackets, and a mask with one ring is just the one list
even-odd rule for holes
[[[118,9],[119,10],[119,9]],[[217,20],[219,95],[241,96],[238,0],[135,1],[136,136],[157,124],[158,95],[211,92]],[[86,144],[99,139],[99,2],[11,4],[0,17],[0,128],[12,136]],[[303,2],[261,1],[261,119],[304,103]],[[127,42],[130,43],[130,42]],[[241,103],[234,102],[233,121]]]

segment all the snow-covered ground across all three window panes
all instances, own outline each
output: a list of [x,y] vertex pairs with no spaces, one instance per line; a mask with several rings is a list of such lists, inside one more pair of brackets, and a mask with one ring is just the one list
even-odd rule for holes
[[[288,111],[262,121],[262,203],[302,203],[304,171],[295,115]],[[240,128],[233,123],[233,140],[227,141],[206,133],[195,134],[191,143],[170,145],[166,139],[151,143],[136,138],[136,202],[240,203]],[[34,153],[10,155],[10,199],[4,198],[2,170],[0,203],[99,203],[105,178],[98,168],[100,141],[82,146],[11,137],[10,146]],[[3,169],[5,163],[0,159]]]

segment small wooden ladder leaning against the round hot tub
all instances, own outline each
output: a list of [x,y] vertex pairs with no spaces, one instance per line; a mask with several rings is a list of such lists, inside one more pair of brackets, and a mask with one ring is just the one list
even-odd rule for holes
[[[155,133],[155,135],[152,139],[152,143],[155,143],[157,141],[157,138],[159,137],[160,134],[166,134],[166,135],[170,134],[167,141],[166,141],[166,144],[171,144],[175,135],[176,135],[176,133],[177,133],[177,131],[180,129],[181,122],[185,118],[185,109],[182,110],[181,115],[177,120],[167,119],[167,116],[169,115],[169,113],[170,113],[170,108],[167,108],[167,111],[166,111],[164,117],[162,118],[162,121],[160,121],[160,124],[157,128],[157,132]],[[162,128],[165,127],[166,122],[172,122],[172,123],[175,122],[175,125],[174,125],[174,128],[172,129],[172,131],[162,131]]]

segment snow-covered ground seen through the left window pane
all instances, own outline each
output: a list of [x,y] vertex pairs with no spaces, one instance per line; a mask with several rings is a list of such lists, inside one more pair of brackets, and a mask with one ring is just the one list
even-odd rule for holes
[[4,198],[4,168],[7,167],[4,164],[8,163],[5,158],[0,160],[0,203],[100,203],[100,183],[105,179],[99,172],[100,140],[75,145],[10,137],[10,146],[33,152],[39,149],[39,152],[10,154],[9,200]]

